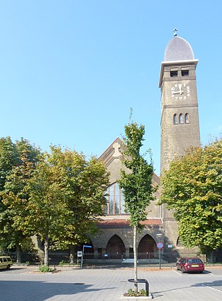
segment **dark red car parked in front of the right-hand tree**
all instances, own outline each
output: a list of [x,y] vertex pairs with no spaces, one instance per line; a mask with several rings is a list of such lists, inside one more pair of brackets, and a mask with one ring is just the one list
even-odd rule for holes
[[203,272],[204,263],[197,257],[185,257],[177,261],[176,269],[181,272]]

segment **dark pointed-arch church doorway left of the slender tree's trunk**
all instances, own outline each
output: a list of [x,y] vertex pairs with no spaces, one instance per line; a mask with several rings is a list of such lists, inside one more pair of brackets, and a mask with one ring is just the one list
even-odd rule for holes
[[125,254],[125,245],[117,234],[110,238],[105,252],[110,255],[110,259],[121,259],[122,255]]

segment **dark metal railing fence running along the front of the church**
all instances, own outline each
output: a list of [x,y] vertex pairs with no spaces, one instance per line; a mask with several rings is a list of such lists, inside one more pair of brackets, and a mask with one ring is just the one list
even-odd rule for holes
[[[16,261],[16,253],[11,252],[8,255],[12,257],[13,261]],[[160,255],[160,256],[159,256]],[[115,266],[115,267],[133,267],[134,259],[132,254],[128,257],[126,254],[96,254],[96,253],[84,253],[83,266]],[[216,256],[216,254],[196,254],[196,253],[182,253],[177,252],[146,252],[138,253],[137,255],[137,266],[142,268],[174,268],[176,261],[181,257],[200,257],[206,264],[222,263],[222,256]],[[76,255],[74,264],[80,263],[80,259]],[[37,257],[36,253],[22,252],[21,263],[36,264],[40,263],[41,259]],[[50,265],[71,265],[69,252],[53,251],[49,252],[49,264]]]

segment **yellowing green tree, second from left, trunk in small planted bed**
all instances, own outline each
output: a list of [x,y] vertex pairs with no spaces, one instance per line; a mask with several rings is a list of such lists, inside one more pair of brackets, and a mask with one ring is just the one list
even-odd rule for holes
[[31,179],[25,188],[28,200],[23,205],[24,215],[17,215],[16,223],[27,235],[36,235],[44,242],[44,265],[49,266],[49,243],[60,236],[69,209],[66,204],[67,187],[64,181],[58,149],[51,147],[37,163]]

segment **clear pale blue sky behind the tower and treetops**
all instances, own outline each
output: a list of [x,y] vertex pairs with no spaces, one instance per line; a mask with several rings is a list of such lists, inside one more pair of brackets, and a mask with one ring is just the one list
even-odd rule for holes
[[133,108],[159,174],[158,80],[177,27],[199,60],[201,142],[221,138],[221,3],[0,0],[0,136],[100,156]]

